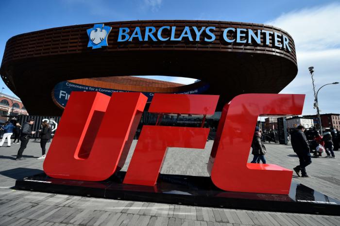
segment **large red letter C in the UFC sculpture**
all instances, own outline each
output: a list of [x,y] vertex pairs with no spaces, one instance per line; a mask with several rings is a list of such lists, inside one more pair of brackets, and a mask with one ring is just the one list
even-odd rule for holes
[[234,192],[289,194],[292,171],[247,163],[259,115],[301,114],[305,95],[244,94],[223,108],[208,162],[213,183]]

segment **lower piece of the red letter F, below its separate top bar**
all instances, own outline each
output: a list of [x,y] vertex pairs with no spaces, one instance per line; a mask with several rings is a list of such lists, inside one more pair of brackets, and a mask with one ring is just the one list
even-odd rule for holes
[[204,149],[209,128],[144,126],[123,183],[154,186],[168,147]]

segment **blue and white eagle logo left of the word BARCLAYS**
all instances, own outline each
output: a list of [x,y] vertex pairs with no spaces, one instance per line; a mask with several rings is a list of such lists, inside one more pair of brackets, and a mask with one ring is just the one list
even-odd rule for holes
[[107,45],[107,36],[111,32],[112,27],[104,26],[104,24],[95,24],[93,28],[87,29],[88,44],[87,47],[102,48]]

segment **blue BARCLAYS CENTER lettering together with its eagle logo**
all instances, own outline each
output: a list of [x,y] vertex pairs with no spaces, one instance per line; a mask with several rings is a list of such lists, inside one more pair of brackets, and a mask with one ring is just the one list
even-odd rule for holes
[[[108,46],[107,38],[112,27],[104,26],[104,24],[95,24],[93,28],[87,29],[89,38],[87,47],[102,48]],[[200,42],[211,43],[220,38],[226,45],[265,45],[275,48],[281,48],[291,52],[289,47],[289,38],[279,32],[268,30],[253,30],[246,28],[225,28],[221,32],[221,37],[215,34],[216,27],[196,27],[186,26],[178,30],[176,26],[162,27],[135,27],[134,30],[129,27],[120,27],[114,38],[118,43],[129,42]],[[179,35],[178,35],[179,34]],[[262,39],[261,39],[262,37]],[[272,40],[272,42],[270,42]]]

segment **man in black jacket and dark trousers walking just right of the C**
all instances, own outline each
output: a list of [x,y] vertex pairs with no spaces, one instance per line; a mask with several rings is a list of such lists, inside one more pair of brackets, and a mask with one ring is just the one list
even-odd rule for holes
[[290,134],[291,146],[300,160],[300,165],[293,168],[293,170],[299,177],[301,171],[301,177],[309,178],[306,173],[306,166],[312,163],[312,159],[309,153],[309,145],[304,130],[305,127],[300,125]]

